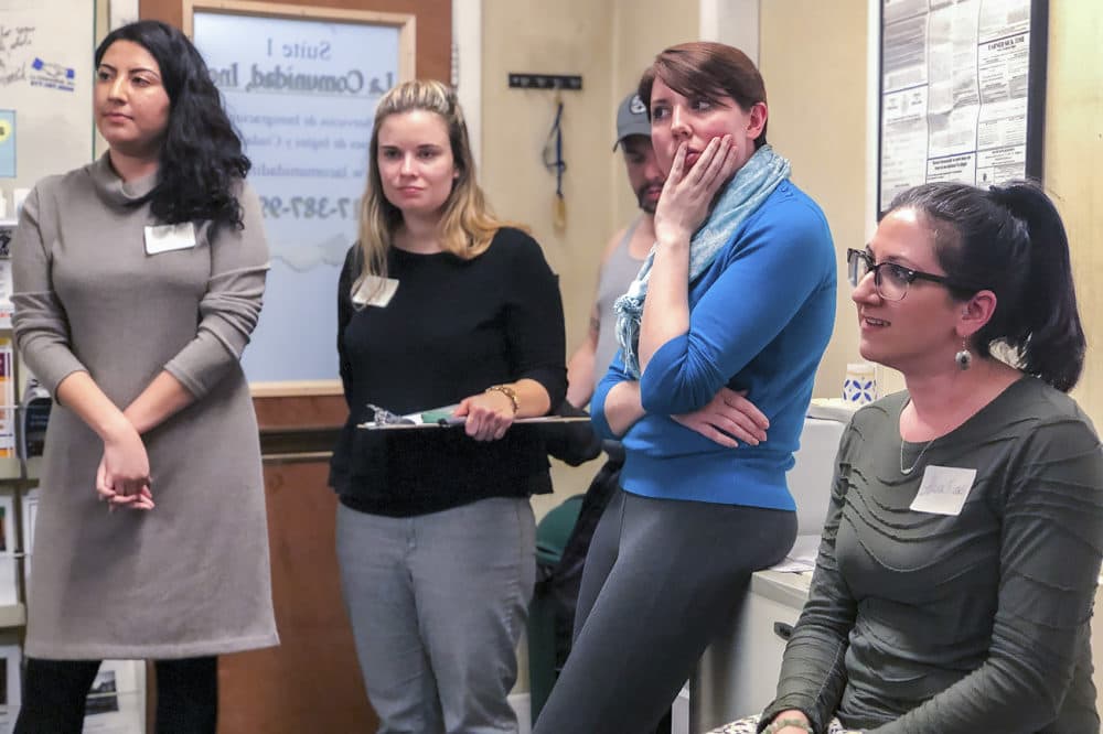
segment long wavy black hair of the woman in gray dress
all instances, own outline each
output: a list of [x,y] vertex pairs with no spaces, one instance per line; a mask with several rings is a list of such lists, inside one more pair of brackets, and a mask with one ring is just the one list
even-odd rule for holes
[[116,41],[131,41],[161,67],[169,95],[169,127],[161,145],[158,185],[142,199],[165,224],[211,222],[240,229],[236,185],[251,163],[222,105],[203,56],[178,29],[160,21],[138,21],[111,31],[96,48],[96,66]]

